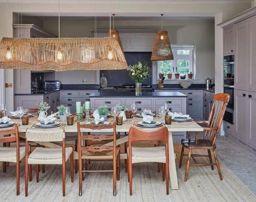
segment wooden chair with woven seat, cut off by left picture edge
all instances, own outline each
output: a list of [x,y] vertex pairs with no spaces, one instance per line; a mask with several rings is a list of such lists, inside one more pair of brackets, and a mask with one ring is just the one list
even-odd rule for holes
[[[14,136],[11,136],[13,134]],[[6,172],[6,162],[16,163],[16,194],[19,195],[19,163],[25,156],[25,147],[19,147],[18,126],[12,128],[1,129],[0,143],[0,161],[3,162],[3,172]],[[16,147],[7,147],[6,143],[16,143]]]

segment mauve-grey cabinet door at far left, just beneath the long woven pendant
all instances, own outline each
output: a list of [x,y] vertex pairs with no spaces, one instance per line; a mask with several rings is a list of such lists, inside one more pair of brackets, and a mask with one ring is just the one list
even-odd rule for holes
[[14,93],[31,93],[31,73],[30,70],[14,70]]

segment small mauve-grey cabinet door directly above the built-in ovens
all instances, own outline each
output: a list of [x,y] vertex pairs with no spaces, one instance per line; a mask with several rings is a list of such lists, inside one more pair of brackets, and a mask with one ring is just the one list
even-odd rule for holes
[[234,26],[224,29],[224,54],[234,53]]

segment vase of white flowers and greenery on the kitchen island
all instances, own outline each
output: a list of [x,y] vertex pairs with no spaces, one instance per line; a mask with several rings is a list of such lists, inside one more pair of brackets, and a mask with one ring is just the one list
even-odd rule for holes
[[150,68],[147,63],[139,61],[137,64],[129,65],[129,76],[135,81],[135,95],[142,94],[142,82],[150,77]]

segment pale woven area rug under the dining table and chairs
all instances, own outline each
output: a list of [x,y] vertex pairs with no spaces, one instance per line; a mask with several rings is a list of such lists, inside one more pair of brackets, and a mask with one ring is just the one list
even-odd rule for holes
[[[179,163],[180,149],[179,145],[175,145],[176,165]],[[198,163],[205,161],[208,162],[208,159],[200,158]],[[69,162],[66,197],[62,197],[61,166],[55,165],[46,166],[45,173],[40,172],[39,183],[35,181],[35,168],[32,167],[33,181],[29,182],[29,196],[25,197],[24,163],[20,169],[20,195],[16,196],[15,166],[11,164],[6,173],[0,172],[0,201],[256,201],[256,196],[222,162],[223,181],[220,181],[216,167],[212,171],[207,166],[190,167],[188,180],[183,182],[185,162],[186,157],[182,168],[177,166],[179,190],[170,189],[168,196],[156,163],[133,165],[133,196],[129,194],[129,183],[123,165],[120,181],[117,182],[117,196],[112,195],[111,173],[86,173],[83,195],[78,196],[78,173],[75,174],[74,183],[71,183]],[[108,169],[111,164],[93,162],[90,168]]]

